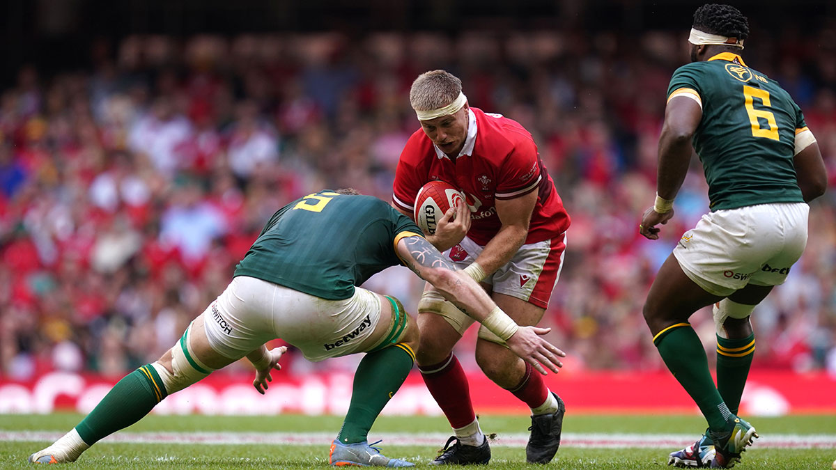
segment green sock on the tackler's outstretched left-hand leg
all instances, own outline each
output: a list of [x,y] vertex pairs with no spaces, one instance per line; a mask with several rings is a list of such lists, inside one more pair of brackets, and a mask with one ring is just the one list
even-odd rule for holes
[[154,367],[143,365],[113,386],[75,430],[85,443],[92,446],[102,437],[140,421],[167,395],[166,387]]

